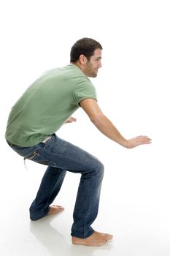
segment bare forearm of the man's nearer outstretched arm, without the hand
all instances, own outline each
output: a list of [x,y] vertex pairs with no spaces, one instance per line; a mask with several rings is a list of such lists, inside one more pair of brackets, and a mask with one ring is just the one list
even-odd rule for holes
[[125,140],[117,128],[112,124],[112,122],[104,116],[103,113],[99,113],[94,118],[90,118],[93,124],[98,128],[100,132],[107,136],[107,138],[114,140],[116,143],[120,144],[121,146],[127,148],[128,147],[128,140]]

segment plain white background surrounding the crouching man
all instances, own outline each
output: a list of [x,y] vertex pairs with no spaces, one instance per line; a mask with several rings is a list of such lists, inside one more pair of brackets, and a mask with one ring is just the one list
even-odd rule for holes
[[[170,255],[169,1],[1,1],[1,255]],[[68,173],[58,200],[63,214],[30,222],[28,207],[45,167],[23,166],[4,140],[10,108],[42,72],[69,64],[82,37],[103,46],[103,67],[92,79],[98,104],[125,138],[148,135],[131,150],[101,135],[77,110],[61,138],[105,165],[101,205],[93,227],[113,233],[101,248],[73,246],[72,211],[80,176]]]

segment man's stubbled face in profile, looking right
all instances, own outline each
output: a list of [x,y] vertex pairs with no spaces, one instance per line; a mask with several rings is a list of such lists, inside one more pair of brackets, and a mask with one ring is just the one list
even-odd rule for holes
[[86,59],[84,64],[84,70],[83,72],[85,75],[87,75],[89,78],[96,78],[98,74],[98,69],[101,67],[101,49],[96,49],[94,51],[93,56],[90,57],[90,60]]

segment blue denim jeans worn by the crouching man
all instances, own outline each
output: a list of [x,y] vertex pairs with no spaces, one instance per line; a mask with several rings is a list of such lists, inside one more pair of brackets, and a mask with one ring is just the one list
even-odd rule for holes
[[25,159],[48,165],[36,198],[30,207],[31,220],[47,215],[50,204],[53,203],[61,189],[66,170],[81,173],[71,236],[87,238],[92,235],[94,230],[91,225],[98,214],[104,165],[96,157],[58,138],[55,134],[36,146],[20,147],[11,143],[9,146]]

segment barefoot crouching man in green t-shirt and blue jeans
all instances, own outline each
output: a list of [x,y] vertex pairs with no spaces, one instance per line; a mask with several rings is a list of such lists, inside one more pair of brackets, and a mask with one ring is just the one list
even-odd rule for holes
[[6,139],[25,159],[48,165],[36,198],[30,207],[31,220],[57,214],[61,206],[52,206],[63,183],[66,170],[81,173],[74,207],[72,243],[101,246],[112,235],[98,233],[91,227],[98,214],[98,203],[104,165],[55,135],[77,108],[88,114],[90,121],[108,138],[125,148],[151,143],[147,136],[126,140],[98,106],[96,89],[89,78],[96,78],[101,67],[99,42],[82,38],[71,50],[71,64],[52,69],[37,79],[18,99],[9,113]]

